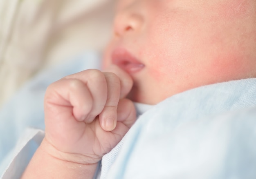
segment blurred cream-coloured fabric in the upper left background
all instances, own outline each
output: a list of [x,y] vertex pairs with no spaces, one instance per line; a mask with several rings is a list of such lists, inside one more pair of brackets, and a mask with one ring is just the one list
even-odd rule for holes
[[115,0],[0,0],[0,107],[36,73],[102,51]]

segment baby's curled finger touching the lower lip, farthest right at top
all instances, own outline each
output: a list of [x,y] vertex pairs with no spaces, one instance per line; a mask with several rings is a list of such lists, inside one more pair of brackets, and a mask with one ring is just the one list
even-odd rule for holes
[[133,85],[133,80],[130,77],[130,75],[128,75],[128,73],[120,69],[117,65],[111,65],[108,67],[108,69],[104,71],[115,73],[119,77],[121,84],[120,98],[122,99],[126,97],[126,95],[128,95]]

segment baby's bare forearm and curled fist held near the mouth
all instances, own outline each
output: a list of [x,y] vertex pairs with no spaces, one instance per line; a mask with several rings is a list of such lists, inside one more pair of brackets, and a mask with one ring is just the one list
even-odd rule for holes
[[135,122],[124,98],[132,79],[117,66],[86,70],[51,84],[45,94],[45,138],[22,178],[92,178],[97,163]]

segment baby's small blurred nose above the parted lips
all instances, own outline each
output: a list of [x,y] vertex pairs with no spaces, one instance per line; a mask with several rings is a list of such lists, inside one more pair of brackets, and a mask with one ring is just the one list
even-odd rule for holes
[[126,33],[141,31],[144,24],[142,13],[132,7],[117,12],[114,21],[114,33],[121,37]]

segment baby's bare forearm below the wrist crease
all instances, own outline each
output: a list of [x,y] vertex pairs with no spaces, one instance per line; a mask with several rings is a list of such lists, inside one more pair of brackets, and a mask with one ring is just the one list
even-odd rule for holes
[[22,179],[45,179],[45,178],[61,178],[61,179],[77,179],[87,178],[92,179],[97,169],[97,163],[86,164],[76,163],[65,158],[71,159],[65,155],[55,155],[51,146],[44,139],[36,150],[33,158],[29,162]]

